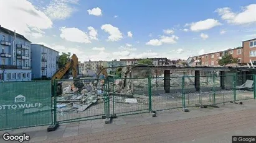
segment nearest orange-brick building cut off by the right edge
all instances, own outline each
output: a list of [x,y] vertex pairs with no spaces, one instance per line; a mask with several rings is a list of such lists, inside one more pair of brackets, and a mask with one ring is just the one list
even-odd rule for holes
[[244,63],[256,63],[256,38],[251,40],[242,41],[244,49]]

